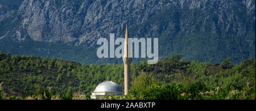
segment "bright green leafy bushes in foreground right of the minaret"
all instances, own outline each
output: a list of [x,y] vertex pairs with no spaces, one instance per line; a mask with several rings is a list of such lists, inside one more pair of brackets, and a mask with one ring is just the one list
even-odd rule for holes
[[[142,78],[146,79],[147,76]],[[126,99],[140,100],[247,100],[255,99],[255,84],[247,86],[230,83],[226,87],[209,87],[197,81],[189,85],[181,83],[148,84],[148,87],[136,87],[129,91]]]

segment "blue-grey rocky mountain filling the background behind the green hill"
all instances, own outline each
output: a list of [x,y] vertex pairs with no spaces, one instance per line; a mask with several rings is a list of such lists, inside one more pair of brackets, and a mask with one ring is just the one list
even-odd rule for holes
[[[158,37],[159,57],[233,63],[255,58],[255,1],[1,0],[0,50],[83,63],[97,58],[100,37]],[[141,61],[134,59],[133,62]]]

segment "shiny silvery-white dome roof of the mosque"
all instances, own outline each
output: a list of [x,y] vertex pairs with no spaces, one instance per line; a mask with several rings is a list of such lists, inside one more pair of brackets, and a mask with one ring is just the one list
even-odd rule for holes
[[106,81],[98,84],[94,92],[123,92],[114,82]]

